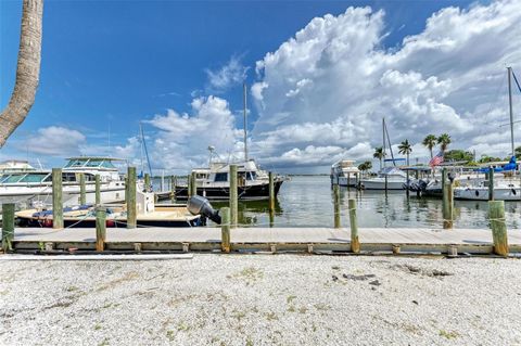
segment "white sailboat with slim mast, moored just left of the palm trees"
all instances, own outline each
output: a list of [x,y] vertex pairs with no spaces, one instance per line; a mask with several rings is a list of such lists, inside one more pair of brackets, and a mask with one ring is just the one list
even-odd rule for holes
[[[366,190],[404,190],[404,184],[407,182],[407,177],[403,170],[396,168],[396,161],[394,158],[393,149],[391,146],[391,140],[389,138],[387,127],[385,126],[385,118],[382,119],[382,132],[383,132],[383,168],[378,172],[374,178],[361,179],[361,187]],[[385,159],[385,145],[389,143],[389,150],[391,152],[391,159]],[[393,166],[385,167],[385,162],[392,162]]]

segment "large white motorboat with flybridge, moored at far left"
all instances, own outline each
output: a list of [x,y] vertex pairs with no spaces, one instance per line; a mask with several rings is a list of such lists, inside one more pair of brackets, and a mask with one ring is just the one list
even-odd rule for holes
[[[101,200],[104,203],[125,200],[125,180],[119,176],[111,157],[71,157],[62,169],[63,204],[79,203],[79,174],[85,175],[86,203],[96,201],[96,176],[101,180]],[[18,205],[50,205],[52,203],[52,175],[49,169],[8,171],[0,176],[0,203]]]

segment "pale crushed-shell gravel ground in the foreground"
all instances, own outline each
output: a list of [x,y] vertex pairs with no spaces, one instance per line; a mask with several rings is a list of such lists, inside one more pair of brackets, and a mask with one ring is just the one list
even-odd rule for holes
[[3,261],[2,345],[521,345],[521,261]]

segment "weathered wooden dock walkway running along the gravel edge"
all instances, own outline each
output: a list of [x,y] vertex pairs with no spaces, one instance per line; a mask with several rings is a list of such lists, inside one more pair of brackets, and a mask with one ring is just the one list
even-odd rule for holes
[[[363,253],[493,253],[486,229],[358,229]],[[350,252],[348,228],[237,228],[231,229],[231,251]],[[219,251],[220,228],[107,229],[107,251]],[[521,253],[521,230],[509,230],[510,253]],[[96,229],[17,228],[16,249],[96,249]]]

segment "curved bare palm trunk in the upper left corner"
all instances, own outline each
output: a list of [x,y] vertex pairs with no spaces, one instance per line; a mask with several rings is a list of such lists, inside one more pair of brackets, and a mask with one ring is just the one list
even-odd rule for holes
[[16,81],[9,104],[0,114],[0,148],[35,103],[40,78],[42,13],[43,0],[24,0]]

